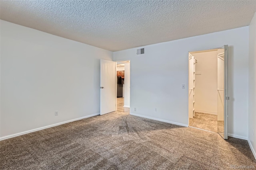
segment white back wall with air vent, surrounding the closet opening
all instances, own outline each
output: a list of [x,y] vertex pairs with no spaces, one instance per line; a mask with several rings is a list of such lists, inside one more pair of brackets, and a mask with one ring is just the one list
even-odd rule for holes
[[225,44],[229,45],[228,132],[247,139],[248,26],[148,45],[142,55],[136,55],[141,47],[114,52],[114,61],[131,61],[130,112],[187,126],[188,52]]

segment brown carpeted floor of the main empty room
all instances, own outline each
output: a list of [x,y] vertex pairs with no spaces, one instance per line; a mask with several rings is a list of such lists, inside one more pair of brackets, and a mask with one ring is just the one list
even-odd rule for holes
[[254,165],[246,140],[112,112],[0,141],[1,170],[226,170]]

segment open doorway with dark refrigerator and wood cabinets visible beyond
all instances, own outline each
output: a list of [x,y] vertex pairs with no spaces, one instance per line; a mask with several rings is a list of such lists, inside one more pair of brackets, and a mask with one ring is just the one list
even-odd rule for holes
[[130,61],[116,62],[116,111],[130,113]]

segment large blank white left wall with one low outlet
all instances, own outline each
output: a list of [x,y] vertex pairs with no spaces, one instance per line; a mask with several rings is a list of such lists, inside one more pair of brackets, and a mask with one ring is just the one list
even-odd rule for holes
[[2,139],[100,112],[100,59],[112,52],[0,23]]

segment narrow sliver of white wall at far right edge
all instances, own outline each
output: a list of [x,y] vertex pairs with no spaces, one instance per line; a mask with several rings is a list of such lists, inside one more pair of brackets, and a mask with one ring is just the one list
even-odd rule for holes
[[[249,122],[248,141],[256,158],[256,13],[249,26]],[[254,135],[253,135],[254,129]]]

